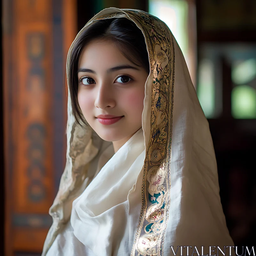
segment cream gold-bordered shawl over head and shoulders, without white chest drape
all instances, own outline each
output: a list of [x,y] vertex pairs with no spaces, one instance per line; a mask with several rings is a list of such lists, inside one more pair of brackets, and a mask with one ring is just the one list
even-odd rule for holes
[[[136,184],[141,188],[141,211],[133,213],[139,214],[138,223],[129,224],[136,226],[129,254],[167,256],[173,253],[170,246],[174,251],[177,246],[204,246],[207,254],[209,246],[234,245],[220,203],[209,125],[170,29],[147,12],[108,8],[89,20],[77,37],[96,20],[119,17],[141,29],[150,63],[142,114],[144,169],[141,183]],[[72,202],[92,181],[100,154],[109,146],[92,128],[76,124],[69,97],[67,143],[67,163],[50,208],[53,224],[43,256],[68,223]]]

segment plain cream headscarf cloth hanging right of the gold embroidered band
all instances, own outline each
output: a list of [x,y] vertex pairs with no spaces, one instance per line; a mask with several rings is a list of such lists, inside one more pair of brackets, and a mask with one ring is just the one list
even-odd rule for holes
[[[176,41],[174,49],[171,207],[165,230],[164,243],[167,246],[164,255],[173,255],[170,246],[174,246],[174,250],[177,246],[192,246],[189,255],[194,246],[201,254],[201,246],[204,246],[204,254],[210,255],[209,246],[223,249],[223,246],[233,246],[234,243],[229,236],[220,202],[209,124]],[[183,253],[186,255],[186,249]],[[211,255],[214,254],[212,252]]]

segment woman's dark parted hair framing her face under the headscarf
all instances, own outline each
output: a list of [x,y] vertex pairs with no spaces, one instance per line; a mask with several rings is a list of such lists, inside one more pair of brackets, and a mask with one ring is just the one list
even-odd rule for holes
[[85,45],[94,39],[112,40],[123,55],[134,65],[143,67],[149,73],[148,52],[145,38],[136,24],[128,18],[111,18],[95,21],[76,39],[71,52],[68,75],[69,93],[73,116],[78,124],[87,125],[77,100],[78,60]]

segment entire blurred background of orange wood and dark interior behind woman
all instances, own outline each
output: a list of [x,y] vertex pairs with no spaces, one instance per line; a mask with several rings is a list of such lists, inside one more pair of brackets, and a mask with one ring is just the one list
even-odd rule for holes
[[68,49],[108,7],[172,30],[209,121],[230,235],[255,246],[255,0],[1,0],[0,255],[42,252],[66,162]]

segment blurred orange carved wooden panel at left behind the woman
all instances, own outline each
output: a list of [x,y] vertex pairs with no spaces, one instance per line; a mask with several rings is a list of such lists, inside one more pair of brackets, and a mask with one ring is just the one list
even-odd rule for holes
[[[76,1],[4,0],[5,255],[41,252],[66,156]],[[66,88],[67,92],[67,88]]]

